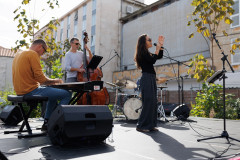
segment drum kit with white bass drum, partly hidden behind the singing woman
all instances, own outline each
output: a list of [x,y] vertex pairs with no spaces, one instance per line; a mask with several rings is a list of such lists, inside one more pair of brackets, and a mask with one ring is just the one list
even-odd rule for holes
[[[166,82],[167,79],[161,78],[157,79],[157,84]],[[125,115],[128,120],[137,120],[140,117],[142,111],[142,100],[140,96],[140,83],[137,84],[131,80],[117,80],[116,83],[105,82],[115,89],[115,103],[112,110],[113,117],[116,117],[117,111],[120,110]],[[138,92],[138,94],[123,94],[119,93],[119,90],[125,89],[134,89]],[[158,87],[159,88],[159,87]],[[160,87],[161,89],[161,104],[158,106],[158,119],[164,118],[167,122],[167,118],[165,116],[164,108],[162,105],[162,89],[167,87]]]

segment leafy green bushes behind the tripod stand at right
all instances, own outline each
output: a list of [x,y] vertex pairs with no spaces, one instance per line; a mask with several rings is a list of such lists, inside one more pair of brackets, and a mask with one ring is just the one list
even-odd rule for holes
[[[239,119],[240,100],[233,98],[234,95],[225,95],[225,116],[227,119]],[[202,84],[202,90],[197,93],[196,104],[192,105],[191,115],[210,117],[214,111],[214,118],[224,117],[222,86],[218,84]]]

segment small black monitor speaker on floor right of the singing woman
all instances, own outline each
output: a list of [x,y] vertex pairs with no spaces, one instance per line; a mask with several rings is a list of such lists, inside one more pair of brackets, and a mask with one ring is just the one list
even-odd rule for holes
[[179,120],[187,120],[190,109],[187,105],[181,104],[173,110],[173,113]]

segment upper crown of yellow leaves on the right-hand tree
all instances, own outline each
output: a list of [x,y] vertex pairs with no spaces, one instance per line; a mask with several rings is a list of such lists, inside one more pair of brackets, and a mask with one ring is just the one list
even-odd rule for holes
[[[195,25],[197,32],[212,40],[212,33],[217,33],[221,21],[226,24],[233,23],[229,18],[234,13],[233,4],[233,0],[192,0],[191,5],[194,10],[188,16],[191,17],[191,20],[187,25]],[[226,31],[224,31],[224,35],[227,35]],[[189,35],[190,37],[193,37],[192,33]]]

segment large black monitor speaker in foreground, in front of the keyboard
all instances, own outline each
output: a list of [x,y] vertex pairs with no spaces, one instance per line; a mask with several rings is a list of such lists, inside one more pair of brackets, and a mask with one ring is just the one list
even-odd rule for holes
[[61,105],[48,122],[48,135],[53,144],[81,145],[100,143],[112,132],[113,117],[105,105]]

